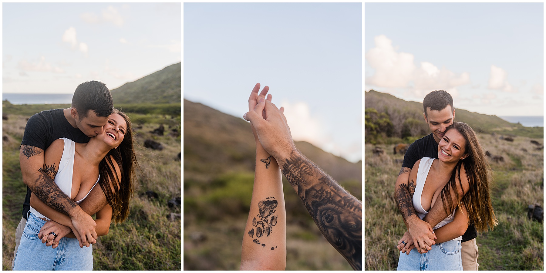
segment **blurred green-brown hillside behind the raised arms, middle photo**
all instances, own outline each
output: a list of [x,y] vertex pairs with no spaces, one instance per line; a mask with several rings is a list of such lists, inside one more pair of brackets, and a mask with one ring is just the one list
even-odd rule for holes
[[[184,100],[184,269],[238,270],[250,209],[256,147],[250,123]],[[362,198],[357,164],[305,142],[296,147]],[[283,177],[287,270],[351,270]]]

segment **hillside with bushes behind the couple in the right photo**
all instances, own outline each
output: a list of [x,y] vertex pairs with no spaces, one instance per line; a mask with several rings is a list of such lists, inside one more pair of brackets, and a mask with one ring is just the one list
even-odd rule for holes
[[[407,102],[374,90],[364,95],[366,143],[412,143],[430,133],[423,118],[423,103]],[[490,116],[456,108],[455,121],[466,122],[476,132],[543,138],[543,127],[524,127]]]

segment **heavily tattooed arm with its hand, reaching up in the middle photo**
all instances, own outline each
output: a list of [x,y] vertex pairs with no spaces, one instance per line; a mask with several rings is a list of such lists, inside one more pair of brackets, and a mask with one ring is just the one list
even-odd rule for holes
[[[257,84],[252,92],[257,93],[259,87]],[[362,202],[296,149],[286,117],[275,104],[258,98],[256,108],[244,118],[256,129],[264,149],[275,157],[324,237],[353,269],[362,270]]]

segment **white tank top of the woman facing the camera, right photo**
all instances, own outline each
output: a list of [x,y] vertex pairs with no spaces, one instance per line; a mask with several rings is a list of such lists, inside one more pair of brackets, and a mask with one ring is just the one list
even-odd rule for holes
[[[417,171],[416,188],[415,188],[415,192],[413,193],[412,201],[413,201],[413,207],[415,211],[417,212],[417,216],[419,216],[419,218],[421,219],[425,217],[426,213],[429,213],[428,211],[423,209],[423,205],[421,204],[421,195],[423,194],[423,188],[425,186],[426,177],[429,175],[432,162],[434,162],[434,158],[431,158],[431,157],[421,158],[421,161],[419,162],[419,169]],[[452,222],[454,216],[455,216],[455,212],[451,213],[451,215],[446,217],[446,219],[443,219],[442,222],[438,223],[432,229],[440,228],[443,225]],[[458,238],[455,238],[453,240],[454,241],[462,240],[462,236],[459,236]]]

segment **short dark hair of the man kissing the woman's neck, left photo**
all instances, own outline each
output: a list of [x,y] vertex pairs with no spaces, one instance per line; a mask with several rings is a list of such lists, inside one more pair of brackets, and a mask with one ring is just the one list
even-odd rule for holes
[[81,118],[93,110],[98,117],[109,116],[114,112],[114,100],[108,87],[100,81],[82,82],[72,97],[72,107],[78,110]]

